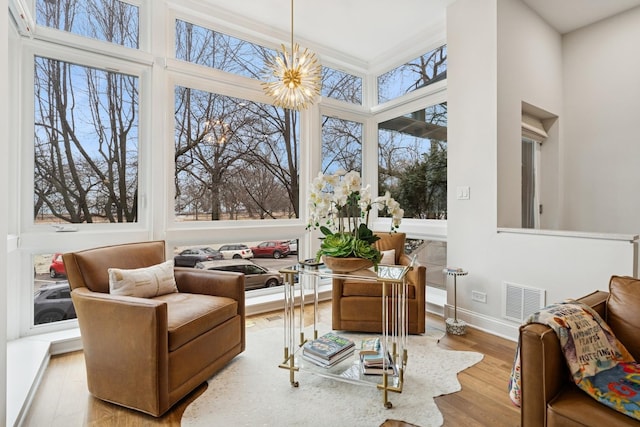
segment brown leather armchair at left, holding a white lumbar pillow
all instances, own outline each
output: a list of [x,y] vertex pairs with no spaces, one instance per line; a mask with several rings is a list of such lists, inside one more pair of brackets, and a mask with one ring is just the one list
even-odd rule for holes
[[78,316],[89,392],[160,416],[245,348],[244,276],[174,268],[178,292],[109,293],[109,268],[165,261],[163,241],[63,255]]

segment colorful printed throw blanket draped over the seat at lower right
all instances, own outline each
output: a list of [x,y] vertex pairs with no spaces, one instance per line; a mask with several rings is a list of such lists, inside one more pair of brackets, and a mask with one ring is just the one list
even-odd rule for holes
[[[577,301],[553,304],[526,323],[541,323],[558,335],[576,385],[599,402],[640,419],[640,363],[591,307]],[[520,344],[511,370],[509,397],[520,406]]]

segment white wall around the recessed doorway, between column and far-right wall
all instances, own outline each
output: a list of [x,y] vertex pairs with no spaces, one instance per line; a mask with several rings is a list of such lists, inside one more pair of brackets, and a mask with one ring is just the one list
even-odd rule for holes
[[[562,110],[562,45],[560,35],[519,0],[498,8],[498,222],[519,228],[522,182],[522,102],[559,116]],[[560,126],[561,120],[556,123]],[[544,179],[540,191],[547,218],[558,217],[559,132],[542,144]],[[546,228],[546,227],[541,227]],[[553,227],[550,227],[553,228]]]

